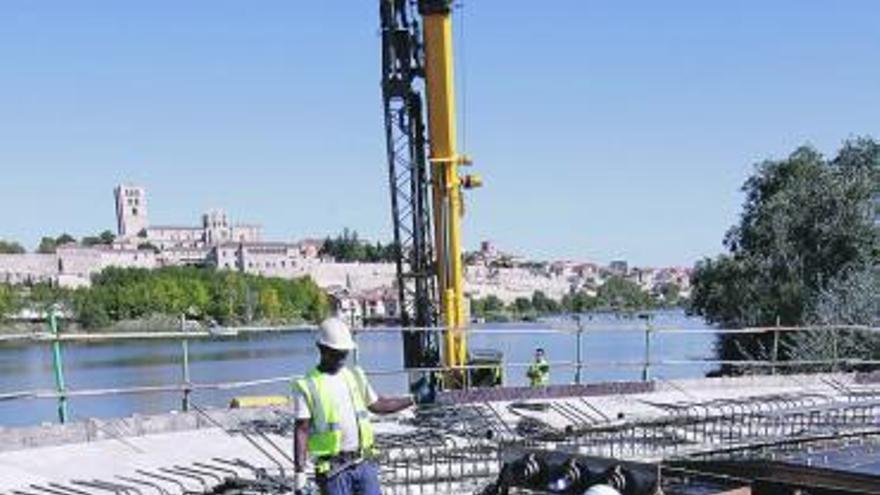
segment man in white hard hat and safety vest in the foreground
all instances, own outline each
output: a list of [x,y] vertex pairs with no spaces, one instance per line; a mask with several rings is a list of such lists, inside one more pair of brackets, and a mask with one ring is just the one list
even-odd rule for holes
[[362,369],[344,366],[355,343],[342,320],[324,320],[317,345],[318,366],[293,384],[296,493],[305,493],[308,454],[322,495],[381,495],[378,467],[371,461],[373,426],[368,411],[395,413],[415,400],[379,397]]

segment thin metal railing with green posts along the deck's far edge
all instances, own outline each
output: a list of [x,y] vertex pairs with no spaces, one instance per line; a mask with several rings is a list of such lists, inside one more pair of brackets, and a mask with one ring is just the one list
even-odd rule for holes
[[[62,333],[59,331],[57,319],[54,315],[50,315],[48,320],[49,330],[46,332],[22,333],[22,334],[6,334],[0,335],[0,343],[43,343],[49,344],[52,349],[52,368],[55,378],[55,389],[35,389],[35,390],[19,390],[12,392],[0,392],[0,402],[26,399],[54,399],[58,405],[58,420],[61,423],[67,422],[70,418],[68,411],[68,401],[70,398],[76,397],[100,397],[127,394],[157,394],[157,393],[177,393],[181,395],[181,409],[188,411],[190,409],[190,397],[193,392],[206,390],[239,390],[247,389],[260,385],[287,383],[299,377],[300,375],[283,375],[257,378],[252,380],[225,381],[225,382],[195,382],[191,375],[190,366],[190,350],[189,343],[193,340],[205,340],[212,338],[234,338],[248,334],[258,334],[266,332],[312,332],[314,327],[240,327],[236,329],[224,329],[223,331],[192,331],[183,330],[184,325],[181,324],[181,331],[162,331],[162,332],[124,332],[124,333],[99,333],[99,334],[82,334],[82,333]],[[443,328],[359,328],[355,329],[354,334],[357,339],[359,335],[377,334],[377,333],[401,333],[406,332],[442,332]],[[858,325],[836,325],[836,326],[806,326],[806,327],[751,327],[740,329],[714,329],[714,328],[679,328],[679,327],[658,327],[654,326],[650,319],[643,323],[634,323],[633,325],[620,326],[616,325],[609,330],[607,326],[592,327],[584,325],[581,320],[576,320],[575,325],[558,325],[548,326],[546,328],[494,328],[494,329],[468,329],[469,335],[492,334],[497,336],[540,336],[540,335],[569,335],[574,340],[575,359],[574,360],[557,360],[550,361],[550,366],[554,369],[571,370],[572,382],[581,384],[584,381],[584,370],[590,369],[609,369],[609,368],[631,368],[641,370],[641,379],[649,381],[652,379],[652,369],[661,366],[736,366],[752,369],[766,369],[769,373],[776,373],[782,368],[798,368],[798,367],[824,367],[830,370],[841,369],[853,366],[880,366],[880,360],[860,359],[847,357],[842,355],[833,355],[827,359],[788,359],[782,360],[779,357],[780,340],[784,335],[796,332],[832,332],[838,335],[841,332],[865,332],[880,333],[880,328],[858,326]],[[586,360],[584,358],[583,340],[591,334],[608,334],[619,332],[633,332],[644,335],[644,355],[641,360],[623,360],[623,361],[597,361]],[[655,355],[653,341],[658,335],[765,335],[772,336],[772,352],[766,359],[662,359]],[[180,381],[166,385],[145,385],[130,387],[112,387],[112,388],[90,388],[82,390],[72,390],[67,386],[64,375],[63,349],[64,344],[75,345],[78,343],[94,343],[94,342],[116,342],[116,341],[132,341],[132,340],[176,340],[181,343],[181,374]],[[357,362],[357,353],[353,359]],[[502,369],[504,375],[507,371],[528,368],[530,362],[504,361]],[[471,369],[486,369],[487,365],[466,365],[459,366],[457,369],[462,371]],[[386,369],[367,369],[369,375],[405,375],[409,373],[444,371],[443,367],[422,367],[422,368],[386,368]]]

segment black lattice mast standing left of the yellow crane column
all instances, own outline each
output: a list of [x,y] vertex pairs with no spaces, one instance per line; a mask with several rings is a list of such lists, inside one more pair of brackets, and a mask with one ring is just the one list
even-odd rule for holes
[[[423,117],[424,51],[416,8],[407,0],[380,0],[382,96],[391,214],[397,248],[397,289],[403,326],[437,325],[437,289],[431,237],[430,179]],[[403,334],[404,364],[438,366],[434,332]]]

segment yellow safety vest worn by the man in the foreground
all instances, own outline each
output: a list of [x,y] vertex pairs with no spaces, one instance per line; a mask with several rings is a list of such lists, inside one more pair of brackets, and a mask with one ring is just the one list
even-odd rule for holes
[[[370,423],[364,397],[367,394],[367,378],[364,371],[356,367],[339,370],[348,385],[348,393],[354,406],[358,425],[360,453],[369,454],[373,448],[373,425]],[[317,368],[310,371],[304,378],[293,384],[306,399],[311,419],[309,420],[309,453],[316,460],[318,473],[330,468],[327,459],[342,452],[342,431],[339,429],[338,407],[336,400],[330,395],[324,382],[326,375]]]

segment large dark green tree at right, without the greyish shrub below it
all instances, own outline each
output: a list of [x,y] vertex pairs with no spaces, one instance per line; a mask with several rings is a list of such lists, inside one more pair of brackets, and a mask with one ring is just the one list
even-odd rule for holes
[[758,165],[724,241],[730,254],[696,266],[693,309],[727,327],[804,323],[829,281],[880,252],[878,169],[880,147],[870,140],[847,142],[831,161],[802,147]]

